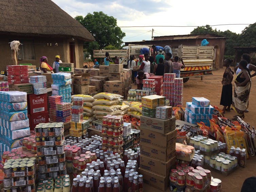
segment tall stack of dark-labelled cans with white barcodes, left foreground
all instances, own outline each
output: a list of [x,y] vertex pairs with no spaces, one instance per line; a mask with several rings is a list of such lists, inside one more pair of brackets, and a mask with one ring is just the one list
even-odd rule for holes
[[39,123],[35,127],[38,178],[66,174],[63,123]]

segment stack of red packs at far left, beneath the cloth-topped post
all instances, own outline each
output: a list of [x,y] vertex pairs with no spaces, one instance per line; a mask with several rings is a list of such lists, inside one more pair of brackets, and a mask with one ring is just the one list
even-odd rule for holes
[[29,82],[28,65],[7,65],[6,71],[9,84]]

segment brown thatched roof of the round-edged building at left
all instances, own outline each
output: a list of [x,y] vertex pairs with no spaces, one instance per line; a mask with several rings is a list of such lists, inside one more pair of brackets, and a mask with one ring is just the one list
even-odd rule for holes
[[51,0],[1,0],[0,33],[30,36],[94,38]]

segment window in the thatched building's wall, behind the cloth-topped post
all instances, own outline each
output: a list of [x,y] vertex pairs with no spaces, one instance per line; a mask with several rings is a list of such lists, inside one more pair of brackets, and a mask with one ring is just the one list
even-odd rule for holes
[[33,40],[20,40],[18,60],[35,60],[35,48]]

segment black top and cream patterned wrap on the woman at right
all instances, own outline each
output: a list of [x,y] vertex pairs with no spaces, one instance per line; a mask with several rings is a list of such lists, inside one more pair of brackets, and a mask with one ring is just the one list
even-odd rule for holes
[[[238,74],[235,81],[242,83],[245,80],[245,78],[240,77],[242,73],[243,72],[240,72]],[[234,84],[234,96],[233,96],[232,105],[237,111],[239,116],[243,116],[244,111],[247,109],[250,89],[251,89],[251,81],[249,81],[245,86],[237,86],[236,83]]]

